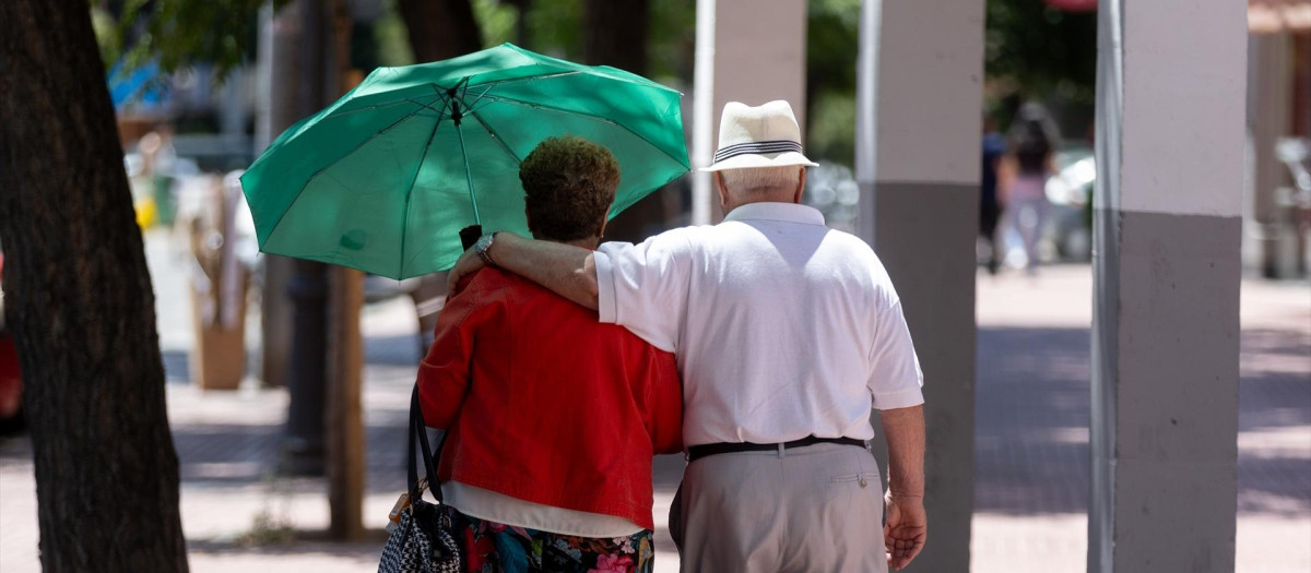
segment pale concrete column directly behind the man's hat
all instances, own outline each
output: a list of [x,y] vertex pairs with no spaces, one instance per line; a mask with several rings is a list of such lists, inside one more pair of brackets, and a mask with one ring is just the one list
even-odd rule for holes
[[[711,165],[720,114],[732,101],[787,99],[805,132],[806,1],[697,0],[692,169]],[[708,173],[692,179],[692,224],[724,218]]]

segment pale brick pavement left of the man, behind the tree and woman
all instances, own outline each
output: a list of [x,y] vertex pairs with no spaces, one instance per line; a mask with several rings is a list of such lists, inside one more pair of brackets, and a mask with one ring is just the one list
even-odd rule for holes
[[[258,390],[246,381],[235,392],[202,392],[187,381],[193,344],[184,259],[168,237],[147,233],[147,258],[157,300],[160,347],[166,370],[169,425],[181,470],[181,514],[191,570],[231,572],[261,565],[292,572],[376,570],[382,529],[404,489],[404,428],[420,360],[414,311],[408,300],[364,309],[364,424],[367,476],[364,525],[375,540],[340,544],[313,540],[328,526],[321,479],[275,477],[284,390]],[[252,313],[252,319],[257,315]],[[248,324],[248,351],[258,348],[258,323]],[[680,458],[661,462],[666,493],[657,496],[663,523]],[[300,532],[288,540],[287,529]],[[311,539],[300,539],[311,536]],[[0,438],[0,572],[39,570],[31,449],[25,437]],[[661,570],[678,568],[667,534],[657,539]]]

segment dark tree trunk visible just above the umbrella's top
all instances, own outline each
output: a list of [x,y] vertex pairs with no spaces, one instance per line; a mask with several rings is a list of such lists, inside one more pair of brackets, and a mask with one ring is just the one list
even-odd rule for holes
[[437,61],[482,50],[469,0],[397,0],[414,60]]

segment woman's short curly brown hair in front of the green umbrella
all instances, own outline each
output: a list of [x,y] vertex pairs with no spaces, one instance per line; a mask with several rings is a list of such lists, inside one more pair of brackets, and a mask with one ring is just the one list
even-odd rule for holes
[[548,137],[519,164],[532,234],[577,241],[597,234],[619,187],[619,161],[577,136]]

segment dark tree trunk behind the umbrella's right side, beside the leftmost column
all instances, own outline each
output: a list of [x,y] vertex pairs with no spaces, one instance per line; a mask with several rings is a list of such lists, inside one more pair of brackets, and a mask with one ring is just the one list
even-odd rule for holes
[[[587,0],[583,7],[583,58],[593,65],[646,73],[650,0]],[[663,188],[642,198],[606,226],[606,238],[638,242],[665,229]]]

